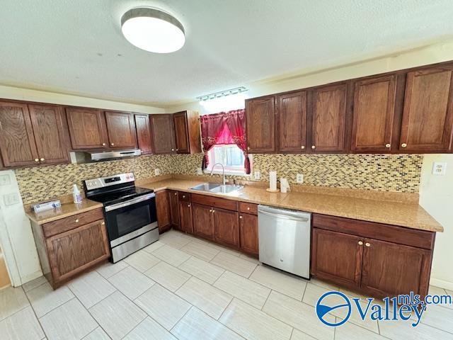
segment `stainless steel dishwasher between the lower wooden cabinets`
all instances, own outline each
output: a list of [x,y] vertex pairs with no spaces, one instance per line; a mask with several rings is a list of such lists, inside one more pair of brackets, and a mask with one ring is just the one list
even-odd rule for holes
[[311,213],[258,205],[260,261],[310,278]]

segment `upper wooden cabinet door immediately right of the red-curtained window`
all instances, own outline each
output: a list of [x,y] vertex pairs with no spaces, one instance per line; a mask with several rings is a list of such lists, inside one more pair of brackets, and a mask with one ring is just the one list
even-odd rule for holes
[[248,152],[275,152],[274,97],[246,101]]

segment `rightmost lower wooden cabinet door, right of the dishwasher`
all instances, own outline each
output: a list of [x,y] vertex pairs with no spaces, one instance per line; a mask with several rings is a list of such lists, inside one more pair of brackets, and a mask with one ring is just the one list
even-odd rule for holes
[[426,295],[430,280],[429,250],[365,239],[362,288],[377,296]]

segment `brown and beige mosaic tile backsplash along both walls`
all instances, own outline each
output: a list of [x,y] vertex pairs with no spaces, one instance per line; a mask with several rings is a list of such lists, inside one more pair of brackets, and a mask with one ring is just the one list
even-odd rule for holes
[[[133,172],[136,179],[164,174],[196,175],[202,154],[151,155],[93,164],[64,164],[16,169],[23,203],[70,194],[72,184],[99,176]],[[308,186],[418,193],[423,156],[418,154],[254,154],[253,171],[267,181],[270,170],[296,183],[304,174]],[[253,176],[229,176],[253,181]]]

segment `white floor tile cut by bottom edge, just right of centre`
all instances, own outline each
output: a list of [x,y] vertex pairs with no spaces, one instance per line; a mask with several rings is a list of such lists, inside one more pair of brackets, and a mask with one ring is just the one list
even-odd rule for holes
[[292,327],[237,299],[219,321],[249,340],[287,340],[292,332]]

